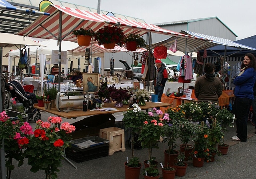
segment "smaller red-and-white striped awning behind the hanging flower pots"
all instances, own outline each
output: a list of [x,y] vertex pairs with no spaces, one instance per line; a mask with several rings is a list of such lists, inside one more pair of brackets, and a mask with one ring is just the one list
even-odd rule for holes
[[72,50],[68,50],[69,52],[85,52],[85,49],[86,48],[90,48],[90,51],[92,53],[115,53],[115,52],[138,52],[138,53],[142,53],[144,52],[144,50],[146,49],[142,49],[142,48],[139,48],[137,49],[136,51],[129,51],[127,50],[126,48],[122,48],[120,46],[115,46],[114,49],[107,49],[107,48],[104,48],[104,46],[99,46],[98,44],[92,44],[92,48],[91,46],[88,46],[88,47],[77,47],[77,48],[74,48]]

